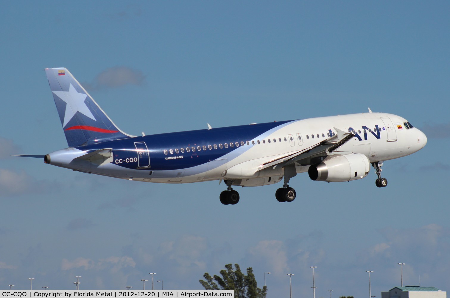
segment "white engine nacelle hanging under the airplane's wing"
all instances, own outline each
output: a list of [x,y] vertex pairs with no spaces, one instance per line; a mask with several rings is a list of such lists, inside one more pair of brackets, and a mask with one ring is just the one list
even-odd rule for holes
[[344,182],[358,180],[369,174],[370,162],[364,154],[347,154],[327,159],[309,167],[311,180]]

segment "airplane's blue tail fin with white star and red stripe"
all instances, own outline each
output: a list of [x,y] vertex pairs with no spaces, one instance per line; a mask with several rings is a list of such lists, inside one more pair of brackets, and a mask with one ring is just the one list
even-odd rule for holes
[[46,68],[45,74],[70,147],[133,136],[109,119],[66,68]]

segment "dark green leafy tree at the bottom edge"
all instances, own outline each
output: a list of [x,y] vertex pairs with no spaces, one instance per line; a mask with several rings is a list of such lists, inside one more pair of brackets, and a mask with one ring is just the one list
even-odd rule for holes
[[211,277],[208,272],[203,275],[205,280],[199,280],[206,290],[234,290],[236,298],[266,298],[267,287],[258,288],[252,267],[247,268],[247,275],[241,271],[238,264],[225,265],[225,270],[220,270],[220,275]]

